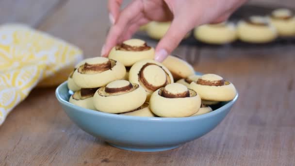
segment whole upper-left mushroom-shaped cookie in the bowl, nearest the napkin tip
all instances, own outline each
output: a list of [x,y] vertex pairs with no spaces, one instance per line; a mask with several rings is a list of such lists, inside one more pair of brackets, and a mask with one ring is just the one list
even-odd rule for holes
[[89,58],[79,66],[74,74],[74,82],[82,88],[96,88],[115,80],[123,79],[125,67],[112,59],[104,57]]

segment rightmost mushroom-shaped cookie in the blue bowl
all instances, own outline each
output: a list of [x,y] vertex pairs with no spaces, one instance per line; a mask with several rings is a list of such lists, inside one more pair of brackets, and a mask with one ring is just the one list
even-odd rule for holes
[[232,83],[216,74],[202,75],[197,82],[190,84],[190,88],[195,90],[202,100],[229,101],[237,94]]

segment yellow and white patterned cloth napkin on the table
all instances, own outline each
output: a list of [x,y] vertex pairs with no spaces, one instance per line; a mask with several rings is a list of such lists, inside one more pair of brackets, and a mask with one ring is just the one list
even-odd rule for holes
[[0,125],[35,86],[66,81],[82,51],[20,24],[0,26]]

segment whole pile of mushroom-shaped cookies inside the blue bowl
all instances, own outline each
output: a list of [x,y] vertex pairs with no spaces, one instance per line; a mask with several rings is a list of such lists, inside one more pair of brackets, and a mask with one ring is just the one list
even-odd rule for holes
[[69,102],[126,116],[186,117],[211,112],[209,105],[236,96],[234,85],[220,76],[195,75],[176,56],[163,63],[153,58],[145,41],[130,39],[115,46],[109,58],[83,60],[68,77]]

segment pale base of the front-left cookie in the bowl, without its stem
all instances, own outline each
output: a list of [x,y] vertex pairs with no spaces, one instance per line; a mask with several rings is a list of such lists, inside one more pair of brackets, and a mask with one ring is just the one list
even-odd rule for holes
[[98,91],[93,97],[94,106],[98,111],[106,113],[129,112],[140,107],[147,98],[146,91],[141,86],[131,92],[116,96],[100,96]]

